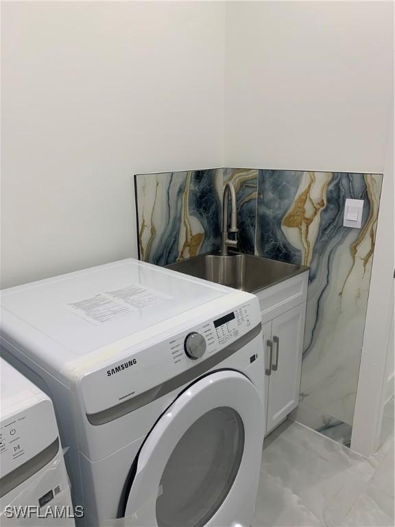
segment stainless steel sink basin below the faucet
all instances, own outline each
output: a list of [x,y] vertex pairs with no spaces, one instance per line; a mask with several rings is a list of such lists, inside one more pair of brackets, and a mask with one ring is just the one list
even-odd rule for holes
[[166,267],[250,293],[256,293],[308,269],[295,264],[285,264],[283,261],[242,254],[200,255],[176,261]]

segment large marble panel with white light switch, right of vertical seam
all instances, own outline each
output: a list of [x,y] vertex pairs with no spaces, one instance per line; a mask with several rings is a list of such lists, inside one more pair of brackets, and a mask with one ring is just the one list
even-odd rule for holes
[[[310,266],[293,417],[344,444],[354,416],[381,178],[259,170],[256,253]],[[364,200],[361,229],[343,226],[346,198]]]

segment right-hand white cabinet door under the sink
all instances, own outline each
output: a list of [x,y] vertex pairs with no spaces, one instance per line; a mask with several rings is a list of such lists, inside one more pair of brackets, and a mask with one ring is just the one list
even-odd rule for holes
[[267,397],[266,433],[298,406],[306,303],[272,321],[273,358]]

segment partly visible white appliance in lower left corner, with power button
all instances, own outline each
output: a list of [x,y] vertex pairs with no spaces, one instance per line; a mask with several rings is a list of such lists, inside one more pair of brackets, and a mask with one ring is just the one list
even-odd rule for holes
[[51,399],[0,359],[0,524],[73,526]]

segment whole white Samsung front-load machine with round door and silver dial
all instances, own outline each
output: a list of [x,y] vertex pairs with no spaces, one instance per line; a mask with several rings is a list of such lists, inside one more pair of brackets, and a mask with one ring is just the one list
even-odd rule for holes
[[134,259],[4,290],[2,353],[54,401],[88,525],[250,524],[258,299]]

